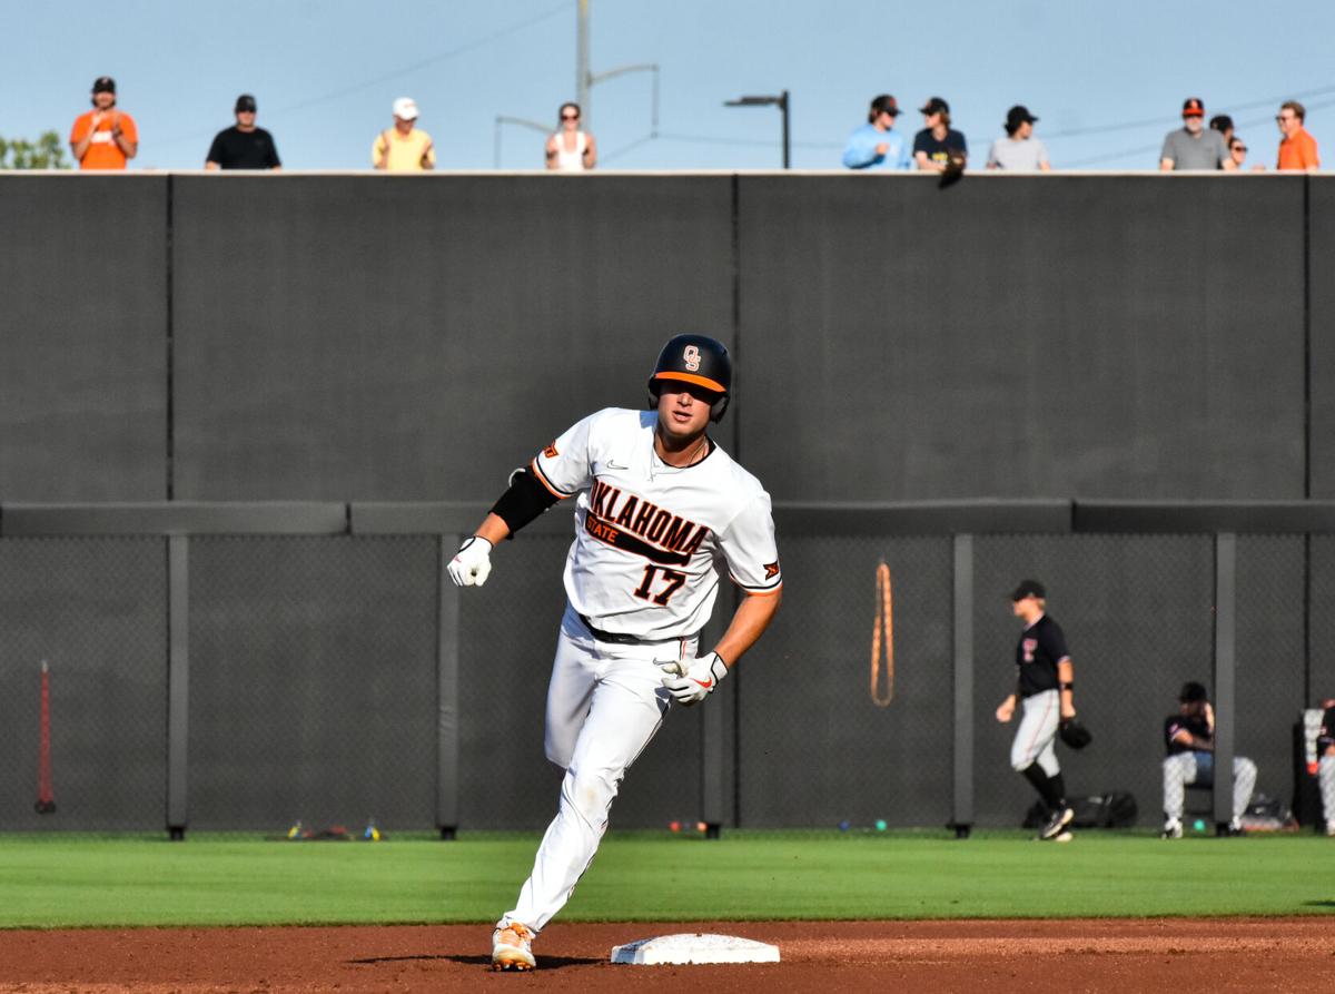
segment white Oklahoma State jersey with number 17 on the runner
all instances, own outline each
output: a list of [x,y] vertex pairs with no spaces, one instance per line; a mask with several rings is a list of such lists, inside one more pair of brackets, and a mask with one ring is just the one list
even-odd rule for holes
[[726,569],[754,595],[782,584],[769,494],[714,445],[692,466],[654,452],[658,413],[607,407],[533,460],[557,497],[578,493],[566,596],[589,624],[635,639],[689,637]]

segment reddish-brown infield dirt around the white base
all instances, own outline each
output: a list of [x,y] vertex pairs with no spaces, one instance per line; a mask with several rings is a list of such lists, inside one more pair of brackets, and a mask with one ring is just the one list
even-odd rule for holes
[[[613,966],[681,931],[777,943],[782,962]],[[495,974],[487,926],[0,931],[0,991],[1290,991],[1335,967],[1330,915],[1003,922],[551,925],[538,970]],[[1314,983],[1316,986],[1314,986]]]

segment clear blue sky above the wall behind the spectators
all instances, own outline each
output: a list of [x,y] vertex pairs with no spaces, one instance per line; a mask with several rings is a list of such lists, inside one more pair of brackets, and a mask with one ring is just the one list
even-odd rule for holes
[[[657,63],[593,90],[609,167],[772,168],[774,108],[792,92],[793,166],[837,168],[866,104],[945,96],[977,162],[1007,108],[1039,115],[1055,166],[1149,168],[1185,96],[1232,112],[1252,162],[1274,166],[1279,100],[1298,96],[1335,156],[1335,4],[1299,0],[1283,21],[1255,3],[943,0],[591,0],[591,65]],[[198,168],[240,92],[259,100],[290,168],[367,168],[390,104],[413,96],[442,168],[495,166],[498,115],[555,123],[574,95],[575,0],[0,0],[0,135],[67,136],[92,80],[116,77],[140,127],[136,168]],[[906,114],[900,127],[921,127]],[[542,138],[501,130],[501,166],[541,166]]]

